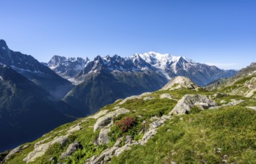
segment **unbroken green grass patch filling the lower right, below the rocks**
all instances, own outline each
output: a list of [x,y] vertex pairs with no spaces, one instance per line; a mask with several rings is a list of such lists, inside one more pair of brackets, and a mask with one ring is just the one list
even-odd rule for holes
[[181,117],[111,163],[222,163],[224,155],[230,163],[255,163],[255,111],[225,107]]

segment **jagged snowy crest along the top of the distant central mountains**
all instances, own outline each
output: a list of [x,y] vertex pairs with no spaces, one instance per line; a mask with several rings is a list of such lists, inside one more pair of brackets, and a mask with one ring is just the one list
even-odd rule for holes
[[[192,79],[199,86],[205,86],[207,83],[215,81],[219,78],[227,78],[234,75],[234,70],[222,70],[216,66],[207,66],[202,63],[195,63],[186,57],[176,57],[171,54],[160,54],[150,51],[144,54],[134,54],[131,57],[120,57],[114,55],[110,57],[97,56],[93,61],[86,59],[84,65],[71,66],[65,68],[66,57],[54,56],[48,63],[49,68],[53,69],[59,75],[63,72],[68,72],[69,69],[76,70],[78,73],[66,76],[69,81],[81,83],[84,80],[84,75],[89,72],[96,72],[96,70],[107,69],[109,72],[143,72],[145,70],[152,70],[157,72],[160,76],[170,80],[175,76],[181,75]],[[74,60],[74,58],[73,58]],[[77,60],[75,60],[77,61]],[[84,68],[83,68],[84,66]],[[65,77],[66,73],[63,75]],[[71,79],[70,79],[71,78]]]

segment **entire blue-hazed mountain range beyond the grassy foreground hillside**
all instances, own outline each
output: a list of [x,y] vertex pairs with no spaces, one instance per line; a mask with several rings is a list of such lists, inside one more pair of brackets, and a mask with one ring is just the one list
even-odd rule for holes
[[149,52],[132,57],[54,56],[49,63],[12,51],[0,40],[0,151],[35,139],[119,98],[153,92],[183,75],[199,86],[236,72],[185,57]]

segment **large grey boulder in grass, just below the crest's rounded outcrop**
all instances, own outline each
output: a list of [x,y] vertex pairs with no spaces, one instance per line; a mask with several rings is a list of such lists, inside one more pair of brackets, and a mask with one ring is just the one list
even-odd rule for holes
[[216,106],[216,102],[207,98],[205,95],[184,95],[169,114],[181,115],[189,113],[193,107],[199,107],[201,110],[205,110]]

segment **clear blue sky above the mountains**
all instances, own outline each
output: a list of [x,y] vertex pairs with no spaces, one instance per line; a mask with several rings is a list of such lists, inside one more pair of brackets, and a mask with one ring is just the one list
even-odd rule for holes
[[157,51],[222,69],[256,61],[256,1],[2,0],[0,39],[46,62]]

